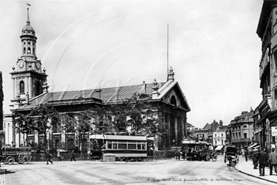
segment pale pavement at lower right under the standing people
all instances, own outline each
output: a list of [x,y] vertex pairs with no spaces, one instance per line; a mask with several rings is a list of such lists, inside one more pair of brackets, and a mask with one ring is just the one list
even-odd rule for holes
[[235,168],[240,172],[252,177],[256,177],[258,179],[263,179],[267,182],[273,182],[277,184],[277,175],[274,171],[274,168],[272,169],[273,175],[269,175],[269,167],[265,167],[265,176],[260,176],[259,168],[253,169],[253,161],[245,161],[245,158],[243,158],[242,156],[240,156],[239,159],[240,161],[235,165]]

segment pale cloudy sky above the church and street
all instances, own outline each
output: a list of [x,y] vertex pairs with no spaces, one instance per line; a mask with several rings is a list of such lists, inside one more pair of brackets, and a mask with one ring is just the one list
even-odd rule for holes
[[169,66],[191,108],[187,122],[228,125],[262,101],[262,0],[0,1],[4,113],[26,3],[50,92],[167,81],[169,25]]

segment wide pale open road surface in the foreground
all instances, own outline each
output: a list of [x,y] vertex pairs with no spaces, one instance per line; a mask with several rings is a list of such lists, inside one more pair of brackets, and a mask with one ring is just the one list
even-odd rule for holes
[[0,184],[273,184],[212,161],[54,161],[2,165]]

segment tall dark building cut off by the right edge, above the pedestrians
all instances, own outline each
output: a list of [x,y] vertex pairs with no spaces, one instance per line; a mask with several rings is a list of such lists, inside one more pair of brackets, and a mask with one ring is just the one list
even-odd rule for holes
[[255,108],[255,142],[266,147],[276,147],[277,135],[277,1],[264,1],[258,22],[258,37],[262,41],[260,58],[260,88],[262,100]]

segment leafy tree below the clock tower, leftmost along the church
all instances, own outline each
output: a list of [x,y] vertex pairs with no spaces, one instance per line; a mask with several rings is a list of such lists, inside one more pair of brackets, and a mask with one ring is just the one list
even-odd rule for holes
[[59,124],[60,115],[53,106],[39,104],[31,108],[30,113],[15,112],[15,123],[17,131],[22,134],[42,134],[44,136],[44,147],[47,150],[49,131]]

